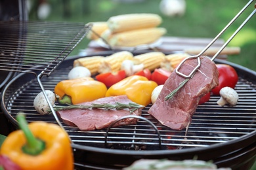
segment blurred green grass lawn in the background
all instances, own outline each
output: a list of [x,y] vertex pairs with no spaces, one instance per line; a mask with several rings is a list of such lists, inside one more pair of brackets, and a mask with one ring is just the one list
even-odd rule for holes
[[[64,16],[62,0],[48,0],[51,5],[51,14],[46,19],[60,22],[98,22],[106,21],[110,16],[128,13],[156,13],[160,14],[163,22],[160,25],[167,29],[165,36],[173,37],[215,37],[230,20],[244,7],[247,0],[186,0],[186,13],[182,17],[170,18],[161,14],[160,0],[145,0],[137,3],[123,3],[112,0],[70,0],[68,6],[70,16]],[[254,4],[253,4],[254,5]],[[253,11],[251,5],[228,28],[221,39],[227,40],[239,27],[245,18]],[[35,12],[30,13],[30,20],[37,20]],[[228,56],[228,61],[237,63],[256,71],[256,16],[245,25],[228,46],[240,46],[241,53]],[[84,39],[70,54],[77,55],[80,50],[87,48],[89,40]],[[252,169],[256,169],[256,165]]]

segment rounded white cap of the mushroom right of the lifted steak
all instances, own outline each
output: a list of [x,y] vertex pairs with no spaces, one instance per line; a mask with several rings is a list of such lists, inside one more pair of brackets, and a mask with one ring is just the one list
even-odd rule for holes
[[226,103],[228,103],[231,106],[236,105],[236,103],[238,103],[238,93],[236,92],[236,90],[234,90],[233,88],[230,87],[224,87],[220,90],[220,95],[221,97],[223,97],[223,99],[226,101]]

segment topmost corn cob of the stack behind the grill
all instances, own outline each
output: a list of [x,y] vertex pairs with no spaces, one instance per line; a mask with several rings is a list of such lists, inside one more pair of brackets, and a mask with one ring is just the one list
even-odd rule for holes
[[162,22],[158,14],[123,14],[108,19],[108,27],[112,33],[156,27]]

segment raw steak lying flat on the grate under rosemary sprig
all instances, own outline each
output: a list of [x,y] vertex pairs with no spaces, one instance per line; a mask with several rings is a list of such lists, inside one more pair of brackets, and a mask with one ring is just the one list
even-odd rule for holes
[[[79,105],[91,105],[92,103],[108,103],[114,105],[116,102],[129,104],[132,101],[128,99],[127,95],[119,95],[116,97],[104,97],[96,99],[95,101],[80,103]],[[135,112],[131,113],[128,109],[69,109],[58,111],[57,114],[62,118],[64,124],[68,126],[77,126],[81,131],[92,131],[95,129],[104,129],[123,116],[140,116],[141,110],[142,109],[137,109]],[[114,127],[128,124],[137,124],[137,118],[125,118],[114,124]]]

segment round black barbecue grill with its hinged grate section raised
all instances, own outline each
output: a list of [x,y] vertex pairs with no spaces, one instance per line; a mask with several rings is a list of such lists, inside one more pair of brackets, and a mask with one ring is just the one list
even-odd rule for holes
[[[1,91],[1,109],[17,126],[16,114],[23,111],[28,122],[60,124],[72,139],[75,169],[121,169],[140,158],[170,160],[212,160],[219,167],[249,169],[256,159],[256,73],[232,65],[239,75],[236,85],[240,99],[234,107],[216,104],[218,96],[199,105],[188,130],[162,126],[142,110],[136,125],[79,131],[53,114],[40,115],[33,99],[42,90],[68,78],[77,58],[66,58],[89,31],[89,25],[60,22],[1,21],[0,71],[7,76]],[[13,31],[16,30],[16,31]],[[2,38],[3,37],[3,38]],[[100,54],[109,56],[113,52]],[[134,53],[135,55],[139,53]],[[93,56],[96,56],[94,54]],[[2,72],[1,72],[2,73]]]

